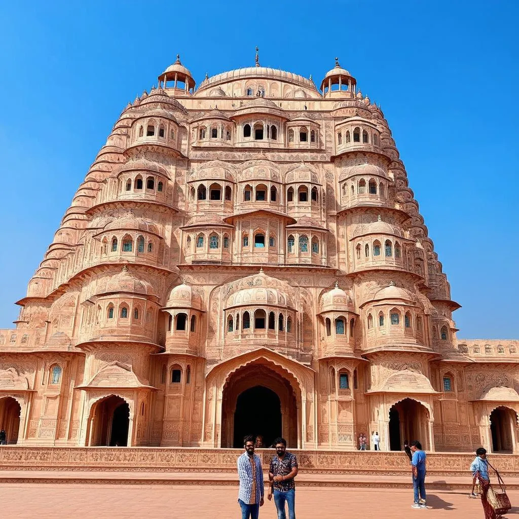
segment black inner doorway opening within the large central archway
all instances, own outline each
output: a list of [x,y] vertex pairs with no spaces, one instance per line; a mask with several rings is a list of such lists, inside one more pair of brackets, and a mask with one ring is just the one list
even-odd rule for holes
[[263,386],[243,391],[236,402],[234,414],[234,447],[243,447],[243,436],[263,436],[269,447],[281,436],[281,402],[278,395]]

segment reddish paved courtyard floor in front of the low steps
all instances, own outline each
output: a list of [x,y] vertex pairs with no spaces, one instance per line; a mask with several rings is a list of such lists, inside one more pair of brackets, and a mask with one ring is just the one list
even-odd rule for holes
[[[509,493],[519,505],[519,491]],[[0,485],[0,513],[9,519],[230,519],[241,517],[236,487],[130,485]],[[459,491],[431,491],[429,510],[413,510],[412,491],[299,488],[297,519],[397,519],[426,514],[434,519],[483,519],[477,499]],[[519,514],[514,507],[507,517]],[[261,519],[276,519],[274,502],[266,502]]]

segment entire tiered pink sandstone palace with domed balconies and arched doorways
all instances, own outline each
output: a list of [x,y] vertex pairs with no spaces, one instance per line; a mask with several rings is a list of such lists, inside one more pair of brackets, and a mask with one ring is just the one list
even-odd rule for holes
[[517,452],[516,341],[456,339],[380,108],[180,60],[122,112],[0,331],[19,445]]

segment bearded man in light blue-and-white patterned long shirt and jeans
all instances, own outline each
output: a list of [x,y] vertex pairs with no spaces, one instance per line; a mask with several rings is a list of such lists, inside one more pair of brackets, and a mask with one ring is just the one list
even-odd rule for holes
[[238,458],[241,519],[258,519],[263,506],[263,468],[260,457],[254,454],[254,436],[245,436],[243,446],[245,452]]

